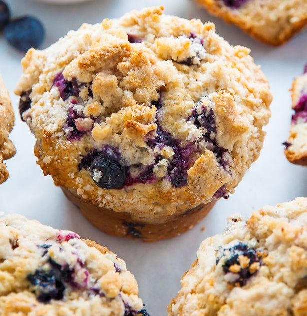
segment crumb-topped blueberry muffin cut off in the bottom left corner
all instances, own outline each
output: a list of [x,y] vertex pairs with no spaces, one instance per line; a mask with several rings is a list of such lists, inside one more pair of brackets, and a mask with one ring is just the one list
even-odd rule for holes
[[94,241],[0,217],[1,316],[127,316],[143,311],[134,276]]

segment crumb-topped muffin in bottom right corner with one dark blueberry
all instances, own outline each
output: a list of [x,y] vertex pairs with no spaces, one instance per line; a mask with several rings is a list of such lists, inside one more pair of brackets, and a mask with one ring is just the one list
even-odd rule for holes
[[201,243],[168,314],[306,315],[307,198],[228,220],[223,234]]

